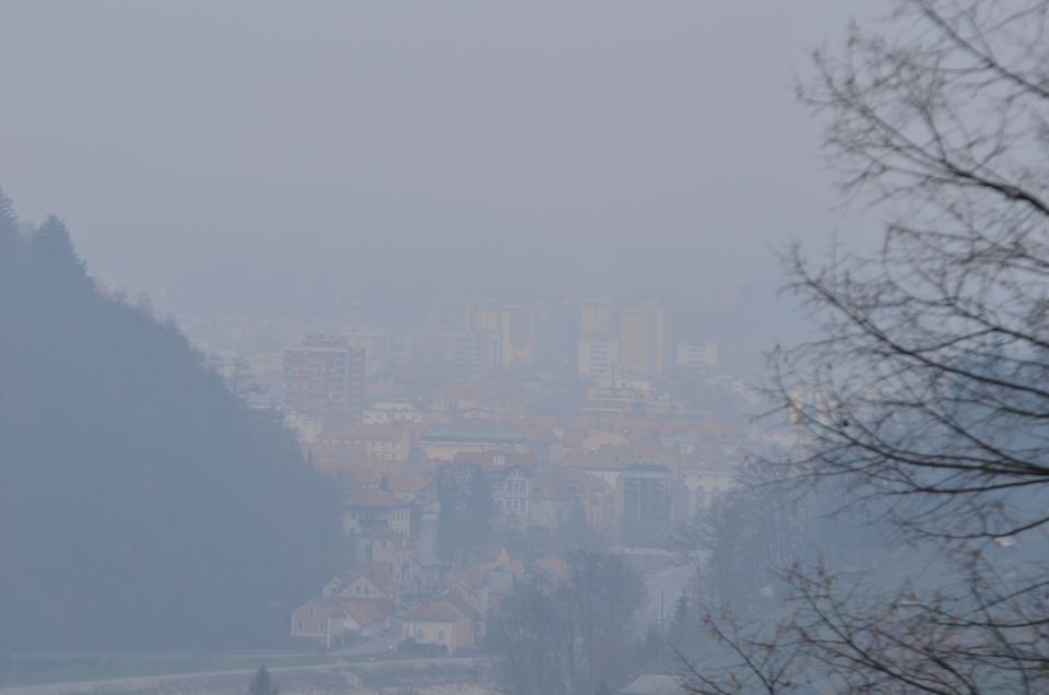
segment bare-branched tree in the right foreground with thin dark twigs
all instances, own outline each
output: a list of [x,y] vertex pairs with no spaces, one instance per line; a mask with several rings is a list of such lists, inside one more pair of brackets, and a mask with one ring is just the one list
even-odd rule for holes
[[734,668],[702,693],[1049,692],[1049,3],[903,0],[815,55],[844,189],[887,220],[871,254],[789,256],[816,338],[771,355],[801,443],[933,570],[869,587],[794,567],[782,620],[708,616]]

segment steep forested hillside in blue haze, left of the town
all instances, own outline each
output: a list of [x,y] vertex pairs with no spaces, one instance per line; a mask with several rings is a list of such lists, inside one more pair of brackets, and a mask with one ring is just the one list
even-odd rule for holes
[[279,420],[0,195],[0,657],[264,644],[328,573],[332,503]]

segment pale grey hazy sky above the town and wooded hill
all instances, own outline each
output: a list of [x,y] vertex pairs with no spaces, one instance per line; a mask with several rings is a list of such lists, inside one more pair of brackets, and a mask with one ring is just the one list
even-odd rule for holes
[[730,288],[840,224],[791,84],[850,4],[5,0],[0,186],[175,310]]

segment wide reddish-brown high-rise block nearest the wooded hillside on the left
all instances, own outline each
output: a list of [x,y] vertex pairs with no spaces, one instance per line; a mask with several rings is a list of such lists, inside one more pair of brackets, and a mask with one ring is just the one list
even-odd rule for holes
[[305,417],[360,416],[364,350],[340,338],[313,335],[284,351],[284,408]]

